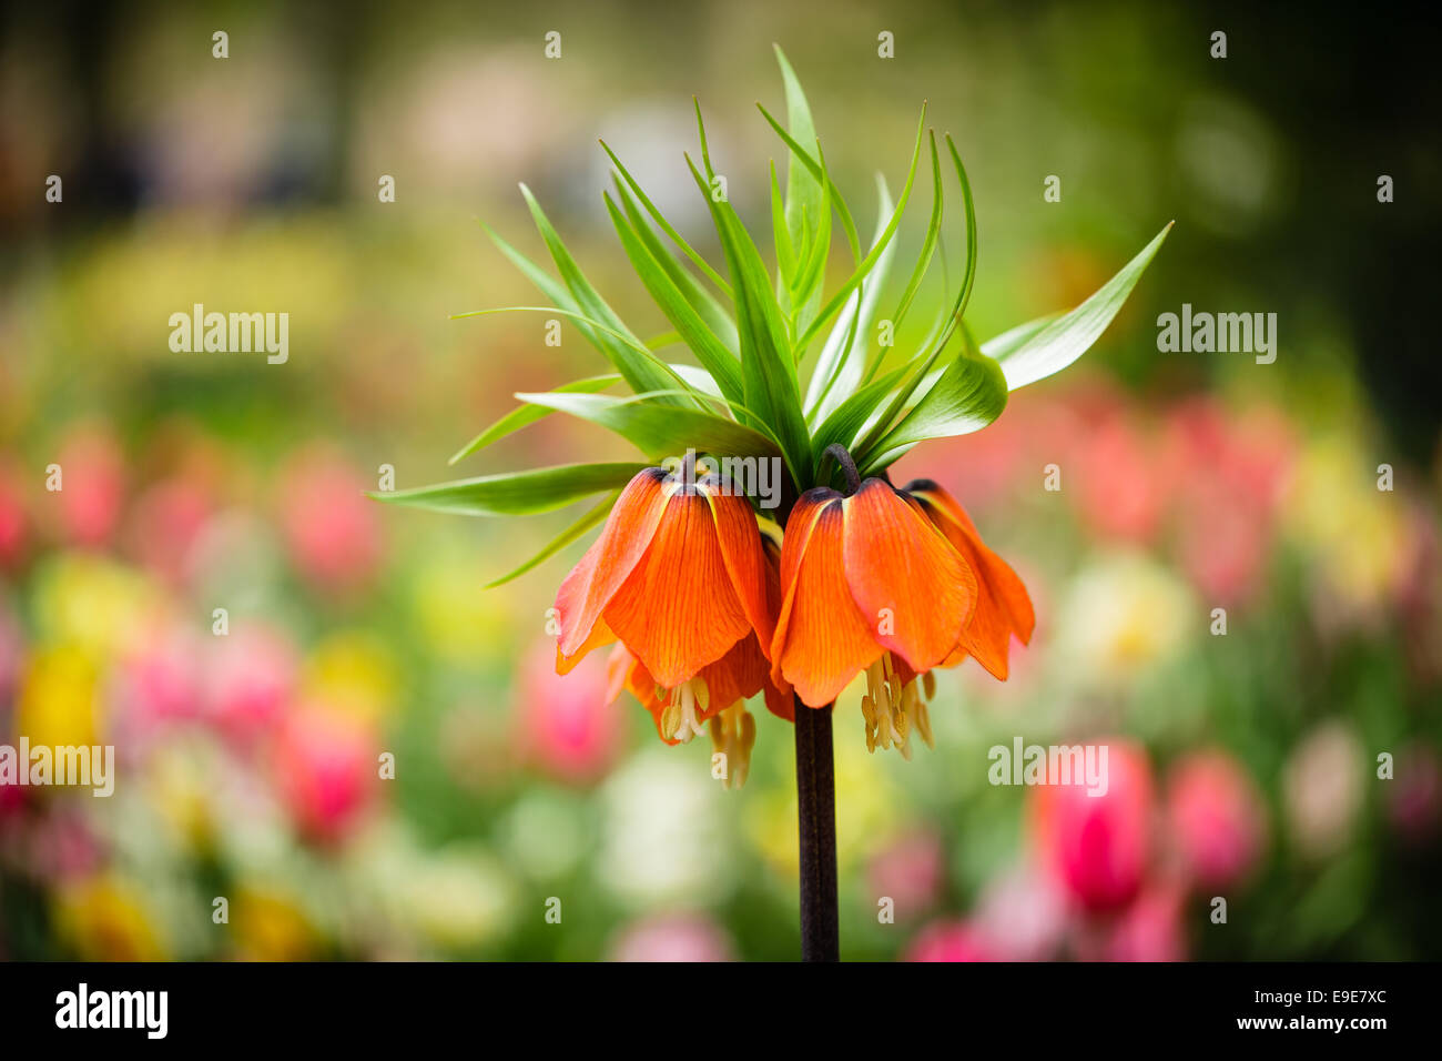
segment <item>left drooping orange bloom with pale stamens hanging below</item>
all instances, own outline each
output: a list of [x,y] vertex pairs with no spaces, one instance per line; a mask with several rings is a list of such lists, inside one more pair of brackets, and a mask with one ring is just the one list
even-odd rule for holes
[[689,478],[647,468],[622,491],[557,593],[557,670],[620,641],[609,664],[611,694],[630,689],[668,743],[691,741],[722,716],[712,736],[744,775],[743,702],[766,689],[771,710],[790,703],[789,687],[770,681],[766,655],[780,598],[776,547],[744,498],[714,476]]

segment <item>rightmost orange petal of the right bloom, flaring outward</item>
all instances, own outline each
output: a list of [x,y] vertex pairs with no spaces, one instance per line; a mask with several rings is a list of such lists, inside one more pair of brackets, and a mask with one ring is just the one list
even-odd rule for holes
[[[1031,641],[1037,616],[1017,573],[986,547],[960,502],[934,482],[913,484],[913,497],[978,575],[976,615],[962,635],[955,663],[969,652],[994,677],[1007,680],[1011,635]],[[910,486],[908,486],[910,489]],[[952,663],[952,661],[949,661]]]

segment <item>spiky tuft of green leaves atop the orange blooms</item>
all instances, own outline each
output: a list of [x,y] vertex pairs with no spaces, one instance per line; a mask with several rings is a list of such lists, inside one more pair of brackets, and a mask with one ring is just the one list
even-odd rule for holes
[[[662,215],[616,153],[601,141],[616,166],[614,198],[606,209],[622,250],[672,332],[643,342],[591,286],[541,204],[525,185],[536,230],[559,280],[526,258],[489,225],[497,248],[549,305],[505,306],[456,313],[547,313],[571,320],[611,365],[611,372],[574,380],[552,391],[515,397],[518,409],[486,427],[451,463],[512,432],[561,411],[590,420],[627,439],[646,463],[583,463],[443,482],[417,489],[372,494],[392,504],[470,515],[522,515],[571,505],[603,494],[594,508],[567,527],[525,564],[497,579],[522,575],[604,521],[617,492],[647,465],[688,450],[717,459],[780,458],[792,497],[816,485],[835,485],[835,462],[823,460],[839,443],[861,475],[875,475],[927,439],[966,435],[995,420],[1009,391],[1066,368],[1106,331],[1138,279],[1156,254],[1171,224],[1116,276],[1074,309],[1018,325],[978,344],[966,325],[976,277],[976,212],[966,167],[952,137],[946,159],[962,195],[966,257],[955,297],[943,299],[924,341],[898,364],[874,339],[884,289],[895,257],[894,238],[916,183],[923,149],[930,160],[932,209],[921,250],[894,303],[890,333],[897,335],[942,243],[943,165],[936,134],[926,128],[926,105],[901,195],[893,201],[877,176],[877,228],[862,247],[846,199],[831,178],[810,107],[796,74],[776,49],[786,88],[787,124],[761,104],[761,117],[787,149],[786,192],[770,167],[771,250],[774,276],[756,240],[720,186],[696,104],[699,166],[686,165],[705,201],[725,257],[724,273],[708,263]],[[826,264],[839,224],[852,267],[833,292],[826,290]],[[943,253],[943,286],[945,253]],[[669,345],[686,346],[696,364],[673,364],[658,355]],[[812,357],[815,351],[815,357]],[[809,370],[808,370],[809,365]],[[805,388],[803,388],[805,380]],[[607,394],[624,384],[630,394]]]

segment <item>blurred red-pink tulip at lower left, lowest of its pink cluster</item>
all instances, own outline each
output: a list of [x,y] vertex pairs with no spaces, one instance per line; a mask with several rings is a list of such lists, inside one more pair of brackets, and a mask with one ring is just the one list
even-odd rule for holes
[[286,719],[273,769],[296,827],[320,843],[349,836],[379,784],[379,755],[369,728],[324,707],[303,707]]

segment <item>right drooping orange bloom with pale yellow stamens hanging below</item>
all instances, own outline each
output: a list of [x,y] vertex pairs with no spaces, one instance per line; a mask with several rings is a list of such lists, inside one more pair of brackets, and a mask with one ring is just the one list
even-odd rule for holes
[[782,549],[770,652],[773,680],[812,707],[864,671],[868,748],[907,756],[913,726],[932,742],[917,678],[930,696],[929,671],[972,654],[1005,677],[1009,635],[1027,641],[1032,625],[1025,588],[955,498],[916,486],[920,497],[872,478],[851,497],[825,486],[802,495]]

